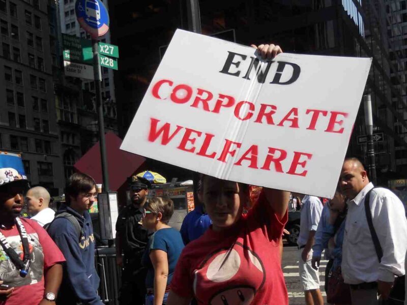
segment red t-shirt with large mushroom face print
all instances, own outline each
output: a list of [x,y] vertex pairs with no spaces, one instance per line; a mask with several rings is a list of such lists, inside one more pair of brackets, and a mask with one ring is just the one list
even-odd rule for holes
[[184,248],[171,290],[198,304],[288,304],[279,247],[287,219],[280,221],[261,193],[236,225],[222,232],[211,226]]

